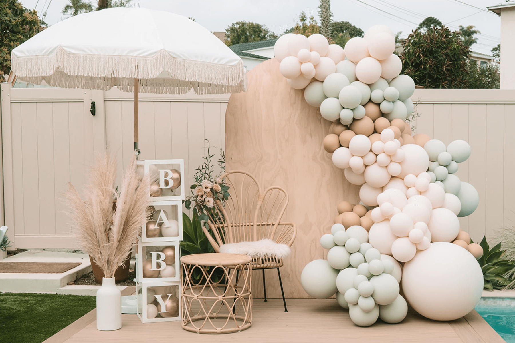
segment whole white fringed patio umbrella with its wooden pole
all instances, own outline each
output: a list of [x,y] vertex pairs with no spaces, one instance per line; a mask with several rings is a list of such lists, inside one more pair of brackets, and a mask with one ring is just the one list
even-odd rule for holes
[[213,33],[174,13],[108,8],[50,26],[11,53],[19,80],[65,88],[138,93],[226,94],[246,91],[242,60]]

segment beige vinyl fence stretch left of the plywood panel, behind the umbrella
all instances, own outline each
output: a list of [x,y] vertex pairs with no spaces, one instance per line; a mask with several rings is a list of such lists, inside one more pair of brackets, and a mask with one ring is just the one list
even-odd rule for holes
[[[189,186],[202,163],[204,139],[225,146],[228,99],[140,94],[140,159],[184,159]],[[13,247],[75,247],[61,193],[68,182],[84,184],[95,153],[106,147],[118,157],[119,184],[122,166],[134,154],[133,94],[2,83],[1,115],[0,223],[9,227]]]

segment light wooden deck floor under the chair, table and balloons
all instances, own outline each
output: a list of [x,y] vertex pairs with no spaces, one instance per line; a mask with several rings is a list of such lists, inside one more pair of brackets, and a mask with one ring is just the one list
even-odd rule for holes
[[334,299],[287,299],[288,313],[282,299],[254,299],[253,323],[248,330],[204,335],[183,330],[180,321],[143,324],[136,315],[123,315],[122,329],[96,330],[95,310],[44,343],[91,342],[359,342],[359,343],[502,343],[504,340],[472,311],[452,322],[438,322],[409,313],[399,324],[378,320],[369,328],[354,325],[348,311]]

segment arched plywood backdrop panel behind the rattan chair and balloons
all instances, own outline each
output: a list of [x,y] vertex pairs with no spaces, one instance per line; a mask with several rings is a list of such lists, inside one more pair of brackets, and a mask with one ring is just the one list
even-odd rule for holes
[[[298,233],[281,276],[285,296],[303,298],[302,268],[323,258],[320,236],[330,232],[339,201],[358,200],[358,187],[347,182],[323,150],[330,123],[305,102],[302,91],[288,85],[277,60],[263,62],[248,77],[248,91],[233,94],[227,106],[227,170],[248,171],[264,187],[280,186],[288,192],[283,220],[294,222]],[[280,297],[277,273],[265,273],[267,296]],[[255,272],[252,281],[252,292],[261,297],[261,273]]]

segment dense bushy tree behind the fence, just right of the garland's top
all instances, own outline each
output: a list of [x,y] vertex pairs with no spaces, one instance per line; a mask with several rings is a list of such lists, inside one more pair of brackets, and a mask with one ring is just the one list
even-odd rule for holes
[[404,74],[425,88],[466,88],[470,48],[447,27],[415,30],[403,42]]

